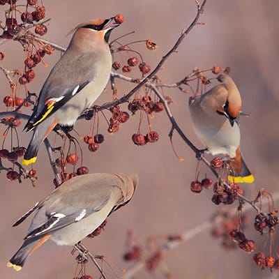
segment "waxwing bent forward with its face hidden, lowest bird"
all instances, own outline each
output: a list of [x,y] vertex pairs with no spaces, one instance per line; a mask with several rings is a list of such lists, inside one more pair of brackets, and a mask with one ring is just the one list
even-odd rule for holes
[[137,183],[137,174],[121,173],[83,174],[64,182],[15,222],[13,227],[36,211],[24,243],[7,266],[20,271],[48,239],[59,246],[79,243],[132,199]]

